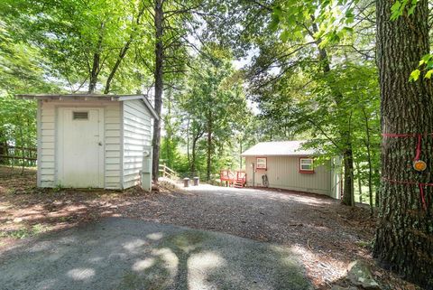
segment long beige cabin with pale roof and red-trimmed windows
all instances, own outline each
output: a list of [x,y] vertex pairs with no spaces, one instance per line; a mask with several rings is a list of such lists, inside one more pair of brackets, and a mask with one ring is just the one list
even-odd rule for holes
[[339,158],[316,166],[319,153],[302,149],[306,141],[262,142],[246,150],[246,185],[313,192],[340,198]]

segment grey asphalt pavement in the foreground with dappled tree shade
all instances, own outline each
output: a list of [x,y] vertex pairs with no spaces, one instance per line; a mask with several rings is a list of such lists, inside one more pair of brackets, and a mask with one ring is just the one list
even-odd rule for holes
[[0,256],[0,289],[310,289],[290,248],[106,219]]

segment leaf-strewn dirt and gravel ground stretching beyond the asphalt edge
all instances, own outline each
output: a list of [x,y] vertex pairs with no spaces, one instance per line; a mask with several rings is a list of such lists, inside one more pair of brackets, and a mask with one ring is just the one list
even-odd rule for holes
[[36,188],[36,172],[0,167],[0,253],[19,239],[74,227],[101,217],[127,217],[290,245],[303,257],[318,289],[349,286],[345,269],[369,263],[383,289],[417,289],[375,266],[375,219],[314,194],[226,189],[203,185],[188,192],[162,184],[147,193]]

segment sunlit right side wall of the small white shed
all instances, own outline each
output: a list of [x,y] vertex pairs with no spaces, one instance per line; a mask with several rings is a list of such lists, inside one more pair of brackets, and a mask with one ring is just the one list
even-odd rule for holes
[[143,166],[143,146],[151,145],[151,115],[140,99],[123,103],[123,187],[129,188],[140,182]]

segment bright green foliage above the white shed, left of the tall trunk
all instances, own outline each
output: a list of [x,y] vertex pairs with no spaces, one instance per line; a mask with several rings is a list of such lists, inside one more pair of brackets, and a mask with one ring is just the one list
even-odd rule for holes
[[[144,37],[152,30],[143,26],[144,18],[150,16],[145,5],[150,4],[140,0],[126,5],[120,0],[5,0],[0,23],[8,42],[38,56],[44,79],[55,80],[71,92],[94,82],[101,90],[122,93],[140,89],[150,75],[150,71],[139,72],[146,71],[146,66],[137,61],[152,60],[152,41]],[[116,76],[112,87],[111,74]]]

